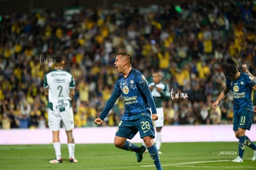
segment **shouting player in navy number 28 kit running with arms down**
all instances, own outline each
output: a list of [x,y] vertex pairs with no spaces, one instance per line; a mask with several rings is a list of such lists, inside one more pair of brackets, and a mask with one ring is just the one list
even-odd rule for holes
[[[132,69],[132,56],[127,53],[118,53],[114,66],[121,76],[114,84],[114,90],[105,108],[101,111],[100,117],[94,123],[100,125],[108,115],[119,96],[124,98],[124,114],[117,127],[114,145],[127,151],[134,151],[137,162],[142,161],[143,153],[148,148],[148,152],[155,163],[156,169],[160,170],[161,163],[158,150],[154,144],[155,129],[153,121],[158,119],[156,105],[148,88],[148,82],[139,70]],[[151,112],[150,112],[151,108]],[[138,147],[130,143],[127,138],[132,139],[137,132],[143,138],[145,146]]]

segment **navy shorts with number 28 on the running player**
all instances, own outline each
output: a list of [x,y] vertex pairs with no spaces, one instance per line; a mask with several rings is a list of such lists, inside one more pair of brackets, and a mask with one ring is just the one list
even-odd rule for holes
[[138,119],[132,121],[122,120],[117,127],[116,136],[132,139],[139,131],[140,138],[147,136],[155,138],[155,129],[150,114],[140,113],[136,117]]

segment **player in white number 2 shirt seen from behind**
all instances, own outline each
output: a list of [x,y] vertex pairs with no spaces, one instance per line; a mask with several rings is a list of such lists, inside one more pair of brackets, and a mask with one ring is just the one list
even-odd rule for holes
[[53,147],[56,158],[49,163],[62,163],[61,142],[59,129],[61,125],[66,130],[69,162],[77,163],[75,159],[75,142],[72,130],[74,129],[74,114],[71,101],[75,95],[75,81],[72,75],[63,70],[64,60],[61,55],[52,57],[54,70],[48,72],[43,81],[45,96],[48,100],[48,125],[53,132]]

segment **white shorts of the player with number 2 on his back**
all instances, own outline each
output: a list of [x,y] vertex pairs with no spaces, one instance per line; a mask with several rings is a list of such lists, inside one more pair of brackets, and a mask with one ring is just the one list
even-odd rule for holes
[[66,131],[74,129],[74,114],[69,101],[62,108],[59,108],[56,104],[53,105],[53,110],[48,108],[49,129],[58,131],[61,128],[61,124]]

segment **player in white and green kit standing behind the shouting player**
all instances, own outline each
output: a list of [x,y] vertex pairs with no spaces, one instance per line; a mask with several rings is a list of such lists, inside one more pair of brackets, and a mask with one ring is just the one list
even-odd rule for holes
[[156,111],[158,115],[158,119],[155,121],[156,127],[156,148],[158,149],[158,153],[161,154],[161,142],[162,142],[162,134],[161,129],[164,125],[164,109],[163,103],[164,101],[168,101],[170,99],[169,86],[165,83],[161,82],[162,75],[160,71],[153,72],[153,82],[151,82],[148,87],[151,90],[151,94],[156,104]]

